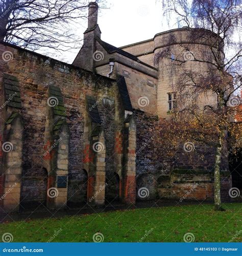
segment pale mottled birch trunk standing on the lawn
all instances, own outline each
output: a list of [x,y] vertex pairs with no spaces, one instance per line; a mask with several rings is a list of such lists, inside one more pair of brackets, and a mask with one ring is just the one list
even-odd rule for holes
[[219,136],[219,143],[216,147],[215,165],[214,165],[214,210],[225,210],[222,208],[221,194],[220,194],[220,163],[222,144],[224,139],[224,133],[221,132]]

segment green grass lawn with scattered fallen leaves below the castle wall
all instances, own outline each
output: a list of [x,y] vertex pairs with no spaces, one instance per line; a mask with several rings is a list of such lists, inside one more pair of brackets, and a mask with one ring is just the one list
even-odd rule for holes
[[189,232],[194,242],[242,242],[241,203],[224,207],[223,212],[202,204],[25,220],[0,224],[0,236],[11,233],[13,242],[93,242],[100,232],[104,242],[184,242]]

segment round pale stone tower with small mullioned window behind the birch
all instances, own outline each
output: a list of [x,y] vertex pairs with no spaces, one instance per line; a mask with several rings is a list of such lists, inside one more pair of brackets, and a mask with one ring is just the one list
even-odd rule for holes
[[[216,35],[205,29],[183,27],[155,35],[154,59],[158,69],[157,112],[160,118],[168,118],[176,107],[176,87],[184,82],[181,80],[186,73],[192,72],[198,77],[199,74],[205,76],[209,71],[208,63],[204,61],[214,61],[210,47],[216,47],[218,43]],[[216,95],[212,93],[199,97],[201,106],[216,103]]]

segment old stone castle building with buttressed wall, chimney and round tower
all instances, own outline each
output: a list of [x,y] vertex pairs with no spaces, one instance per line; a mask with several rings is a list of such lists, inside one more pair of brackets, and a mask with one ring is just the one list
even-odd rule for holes
[[[176,106],[172,85],[179,75],[207,70],[188,58],[171,71],[171,60],[155,63],[155,56],[167,47],[176,56],[181,45],[203,54],[208,45],[191,37],[195,32],[173,29],[117,48],[101,39],[98,4],[89,3],[83,47],[72,65],[1,43],[2,209],[179,200],[190,189],[186,199],[211,200],[212,156],[189,166],[186,155],[175,165],[161,163],[152,134]],[[216,104],[216,96],[201,97],[208,102]],[[232,185],[226,162],[222,170],[226,198]]]

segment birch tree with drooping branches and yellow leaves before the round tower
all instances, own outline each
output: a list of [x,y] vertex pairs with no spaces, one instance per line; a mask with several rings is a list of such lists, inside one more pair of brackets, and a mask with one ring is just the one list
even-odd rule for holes
[[[239,97],[235,95],[241,84],[239,1],[171,0],[162,2],[164,15],[170,18],[171,14],[175,13],[179,26],[186,26],[188,39],[191,42],[202,40],[207,45],[203,54],[193,53],[190,44],[180,44],[180,52],[175,55],[174,48],[167,47],[155,56],[155,62],[158,63],[160,58],[168,59],[170,62],[167,62],[167,65],[171,70],[176,70],[177,67],[180,70],[183,69],[183,72],[178,74],[179,83],[172,85],[177,92],[177,108],[174,110],[172,123],[173,127],[179,126],[180,131],[182,130],[179,132],[177,129],[173,138],[182,140],[186,137],[215,147],[214,204],[215,210],[223,210],[220,195],[222,150],[226,147],[228,130],[234,131],[230,126],[240,103]],[[173,40],[174,38],[171,37],[171,45]],[[189,56],[184,57],[184,54]],[[201,63],[206,68],[201,70],[202,72],[195,71],[192,69],[192,63]],[[215,95],[216,100],[201,104],[200,97],[205,94],[211,97]],[[163,123],[160,129],[162,127],[164,130],[165,126]],[[171,127],[172,130],[173,127]]]

